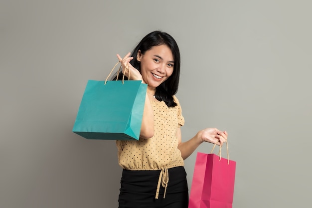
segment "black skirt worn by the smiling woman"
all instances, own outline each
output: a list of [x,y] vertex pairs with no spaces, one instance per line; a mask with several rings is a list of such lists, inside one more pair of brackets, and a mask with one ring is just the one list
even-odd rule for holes
[[167,188],[156,190],[159,171],[123,170],[119,208],[187,208],[188,188],[184,167],[169,168]]

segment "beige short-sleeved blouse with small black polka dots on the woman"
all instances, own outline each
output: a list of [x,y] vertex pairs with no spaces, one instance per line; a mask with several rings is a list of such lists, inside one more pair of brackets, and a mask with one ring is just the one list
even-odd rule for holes
[[119,165],[123,169],[161,170],[184,166],[176,137],[176,130],[184,125],[184,118],[178,99],[175,96],[173,99],[177,106],[170,108],[163,101],[152,101],[155,120],[152,138],[116,141]]

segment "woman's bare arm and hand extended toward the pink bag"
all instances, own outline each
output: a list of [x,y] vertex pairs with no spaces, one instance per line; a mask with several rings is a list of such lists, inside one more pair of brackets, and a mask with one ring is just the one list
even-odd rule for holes
[[181,152],[183,160],[185,160],[203,142],[210,142],[213,144],[217,143],[217,145],[222,146],[223,142],[227,139],[227,132],[222,132],[216,128],[206,128],[197,132],[197,134],[190,140],[182,142],[181,129],[178,128],[176,136],[178,138],[178,149]]

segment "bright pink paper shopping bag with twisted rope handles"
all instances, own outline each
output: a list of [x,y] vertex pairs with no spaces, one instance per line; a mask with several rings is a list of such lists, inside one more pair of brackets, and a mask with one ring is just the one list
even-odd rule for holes
[[198,152],[188,208],[232,208],[235,168],[235,161]]

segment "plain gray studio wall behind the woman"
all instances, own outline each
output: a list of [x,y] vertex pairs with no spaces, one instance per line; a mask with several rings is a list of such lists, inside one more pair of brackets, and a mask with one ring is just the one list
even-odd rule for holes
[[[104,80],[116,53],[156,29],[181,51],[182,140],[205,127],[229,133],[230,159],[237,161],[233,207],[309,207],[311,6],[2,0],[0,207],[117,207],[115,142],[86,140],[71,129],[87,80]],[[189,188],[195,157],[185,161]]]

